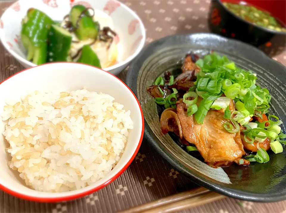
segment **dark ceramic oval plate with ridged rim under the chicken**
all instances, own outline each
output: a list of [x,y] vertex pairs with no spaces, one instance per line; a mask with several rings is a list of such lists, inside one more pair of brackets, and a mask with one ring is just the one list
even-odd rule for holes
[[[165,71],[178,72],[182,58],[192,51],[200,56],[215,50],[226,55],[238,66],[257,73],[257,83],[272,95],[271,110],[286,122],[286,67],[248,44],[214,34],[184,34],[162,38],[151,44],[131,63],[127,84],[137,95],[145,117],[145,137],[178,171],[212,191],[243,200],[280,201],[286,199],[286,148],[283,153],[269,151],[268,163],[250,166],[232,165],[226,168],[207,166],[199,156],[185,152],[171,134],[160,129],[160,108],[147,93]],[[285,125],[281,125],[285,132]]]

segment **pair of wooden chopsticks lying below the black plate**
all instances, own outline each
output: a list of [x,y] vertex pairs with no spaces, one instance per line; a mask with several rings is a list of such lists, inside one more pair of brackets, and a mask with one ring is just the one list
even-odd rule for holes
[[[220,196],[221,198],[224,197],[223,195],[219,195],[217,193],[211,193],[211,194],[209,193],[210,193],[209,190],[203,187],[198,187],[192,190],[188,190],[185,192],[181,192],[175,195],[168,196],[166,198],[161,198],[159,200],[152,201],[147,204],[143,204],[143,205],[136,206],[130,209],[126,209],[118,213],[173,212],[173,211],[178,211],[180,209],[191,208],[193,206],[198,206],[201,204],[205,204],[211,201],[218,200],[220,199]],[[214,196],[214,198],[212,198],[212,196]],[[195,200],[192,200],[192,199],[195,199]],[[202,200],[198,200],[198,199],[202,199]],[[175,210],[172,210],[172,209],[175,209]]]

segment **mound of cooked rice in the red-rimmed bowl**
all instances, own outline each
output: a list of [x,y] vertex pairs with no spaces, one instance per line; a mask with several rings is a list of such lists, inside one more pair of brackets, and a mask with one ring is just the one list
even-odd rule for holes
[[44,192],[97,182],[120,160],[133,128],[130,111],[113,101],[108,94],[83,89],[35,91],[21,102],[7,103],[1,116],[7,122],[8,165],[27,186]]

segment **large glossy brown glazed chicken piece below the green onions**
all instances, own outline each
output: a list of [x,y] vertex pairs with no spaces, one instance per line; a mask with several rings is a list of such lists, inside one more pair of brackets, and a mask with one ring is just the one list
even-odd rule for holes
[[193,115],[186,115],[185,106],[182,101],[177,102],[183,136],[189,143],[195,144],[205,162],[237,162],[245,155],[240,132],[226,131],[223,124],[227,120],[223,118],[222,112],[209,110],[203,124],[198,124]]

